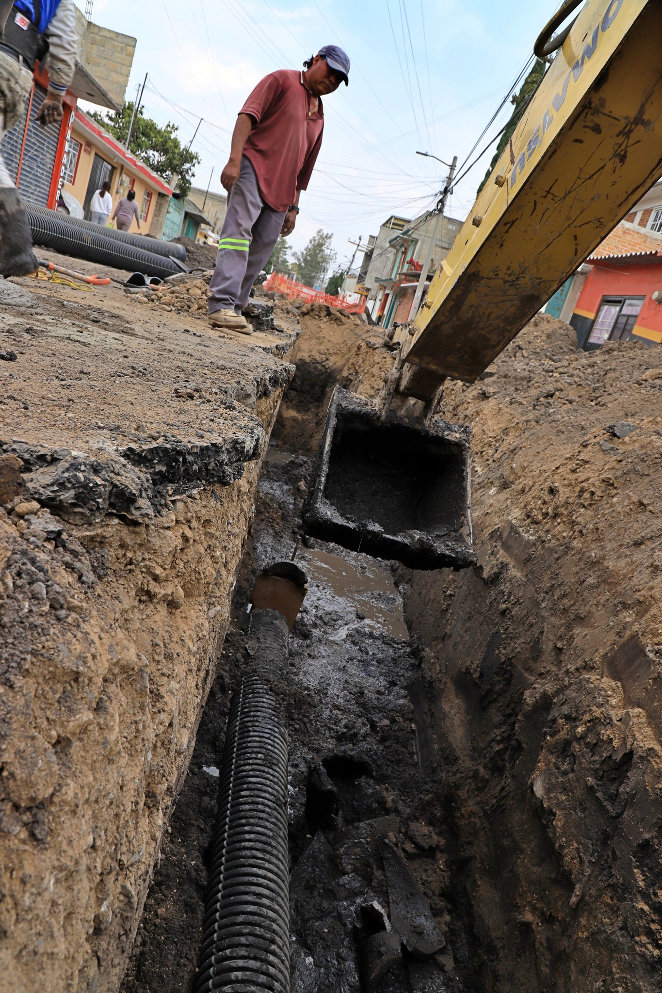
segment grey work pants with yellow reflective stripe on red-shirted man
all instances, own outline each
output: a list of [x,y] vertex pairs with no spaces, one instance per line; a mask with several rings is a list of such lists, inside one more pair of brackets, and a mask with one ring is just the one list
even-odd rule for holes
[[216,266],[209,284],[208,312],[241,312],[250,288],[264,268],[281,233],[285,211],[274,211],[260,197],[255,170],[245,156],[227,198]]

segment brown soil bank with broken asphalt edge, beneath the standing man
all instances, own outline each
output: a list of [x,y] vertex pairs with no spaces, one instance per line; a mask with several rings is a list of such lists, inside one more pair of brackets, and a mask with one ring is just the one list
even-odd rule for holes
[[3,990],[119,986],[293,337],[0,281]]

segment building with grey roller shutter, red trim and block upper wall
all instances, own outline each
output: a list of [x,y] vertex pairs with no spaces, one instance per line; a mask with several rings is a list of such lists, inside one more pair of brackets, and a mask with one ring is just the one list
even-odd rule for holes
[[71,131],[76,113],[80,113],[76,110],[78,98],[118,109],[124,99],[136,47],[135,38],[92,24],[79,10],[76,10],[76,28],[75,73],[66,91],[60,127],[42,128],[36,121],[49,83],[48,74],[37,68],[26,109],[2,141],[7,169],[23,200],[52,210],[60,202],[70,172],[67,166],[71,160]]

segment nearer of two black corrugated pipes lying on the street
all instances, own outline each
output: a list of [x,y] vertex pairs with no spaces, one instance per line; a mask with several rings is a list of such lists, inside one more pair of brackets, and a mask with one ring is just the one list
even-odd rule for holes
[[111,265],[116,269],[130,269],[144,272],[146,276],[172,276],[182,272],[177,262],[143,251],[133,245],[112,241],[97,231],[88,231],[75,227],[61,218],[55,211],[48,215],[34,211],[26,205],[28,223],[32,231],[32,240],[36,245],[53,248],[74,258],[84,258],[88,262],[98,262],[99,265]]

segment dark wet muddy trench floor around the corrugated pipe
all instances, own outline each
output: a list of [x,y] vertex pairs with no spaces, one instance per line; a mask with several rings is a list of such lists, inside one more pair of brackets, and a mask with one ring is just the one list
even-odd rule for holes
[[[301,484],[311,468],[310,459],[275,448],[265,460],[232,625],[123,993],[170,993],[195,983],[229,696],[250,650],[246,603],[259,569],[293,553]],[[405,952],[378,989],[459,993],[469,949],[452,907],[443,776],[390,563],[320,541],[300,545],[297,562],[309,575],[309,593],[287,671],[274,687],[290,734],[293,993],[365,988],[361,949],[376,928],[360,908],[377,901],[388,911],[385,857],[413,872],[427,905],[424,926],[439,949],[425,962]]]

